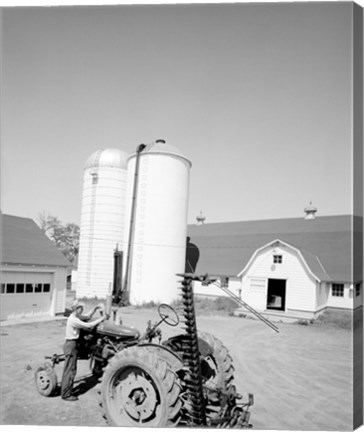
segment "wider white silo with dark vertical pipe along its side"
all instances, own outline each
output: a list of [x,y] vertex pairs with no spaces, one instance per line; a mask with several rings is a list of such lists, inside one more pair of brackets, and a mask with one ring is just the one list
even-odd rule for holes
[[[139,163],[136,161],[137,153],[127,162],[124,282],[127,279],[131,304],[169,303],[178,297],[176,273],[185,269],[191,162],[164,140],[146,146],[139,154]],[[137,193],[133,197],[135,179]],[[130,238],[131,225],[134,229]]]

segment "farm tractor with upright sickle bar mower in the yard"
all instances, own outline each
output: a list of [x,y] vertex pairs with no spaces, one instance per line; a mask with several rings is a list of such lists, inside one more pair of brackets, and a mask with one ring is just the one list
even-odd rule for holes
[[[184,332],[162,340],[162,323],[177,326],[180,318],[167,304],[158,307],[160,319],[143,335],[111,319],[93,330],[82,330],[79,358],[88,359],[99,379],[99,403],[110,426],[203,426],[250,428],[247,401],[234,385],[234,367],[227,348],[196,327],[192,282],[208,285],[208,275],[179,275]],[[63,354],[46,357],[35,373],[37,389],[52,396],[57,389],[55,365]]]

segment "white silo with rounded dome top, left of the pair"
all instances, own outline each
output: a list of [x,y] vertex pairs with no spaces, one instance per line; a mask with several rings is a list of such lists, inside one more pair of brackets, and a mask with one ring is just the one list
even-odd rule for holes
[[122,249],[127,153],[102,149],[84,167],[76,295],[105,298],[113,282],[114,250]]

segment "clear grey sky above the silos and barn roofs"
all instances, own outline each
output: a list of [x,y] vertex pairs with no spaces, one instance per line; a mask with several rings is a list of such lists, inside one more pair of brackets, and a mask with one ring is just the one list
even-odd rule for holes
[[1,210],[80,223],[100,148],[165,139],[188,222],[351,214],[352,4],[5,8]]

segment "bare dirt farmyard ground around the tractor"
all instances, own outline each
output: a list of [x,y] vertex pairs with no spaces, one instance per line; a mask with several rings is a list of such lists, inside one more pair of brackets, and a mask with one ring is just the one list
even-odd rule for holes
[[[142,331],[157,314],[125,308],[123,319]],[[224,316],[197,316],[197,323],[229,349],[238,391],[254,394],[254,429],[352,430],[351,331],[279,324],[275,333],[260,321]],[[162,330],[164,337],[182,331]],[[1,327],[1,424],[106,426],[88,362],[79,361],[77,402],[42,397],[35,388],[37,365],[62,352],[64,331],[65,319]],[[60,380],[62,365],[56,370]]]

